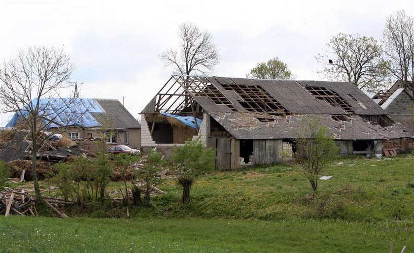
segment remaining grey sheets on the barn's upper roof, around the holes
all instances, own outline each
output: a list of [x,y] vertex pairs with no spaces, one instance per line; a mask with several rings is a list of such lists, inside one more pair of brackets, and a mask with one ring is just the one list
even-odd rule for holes
[[[384,110],[380,108],[372,99],[365,95],[354,84],[350,82],[322,82],[322,81],[292,81],[292,80],[261,80],[247,78],[225,78],[225,77],[203,77],[205,81],[214,84],[217,89],[226,95],[234,104],[238,111],[243,111],[240,100],[234,92],[226,91],[222,84],[237,85],[259,85],[272,95],[290,113],[306,114],[346,114],[340,107],[333,107],[323,100],[314,98],[304,87],[324,87],[340,95],[351,107],[355,114],[360,115],[384,115]],[[355,97],[358,101],[351,99],[348,94]],[[197,102],[198,98],[196,97]],[[362,104],[362,105],[361,105]],[[200,105],[207,105],[206,101]],[[203,108],[207,112],[224,111],[218,105],[209,103]]]

